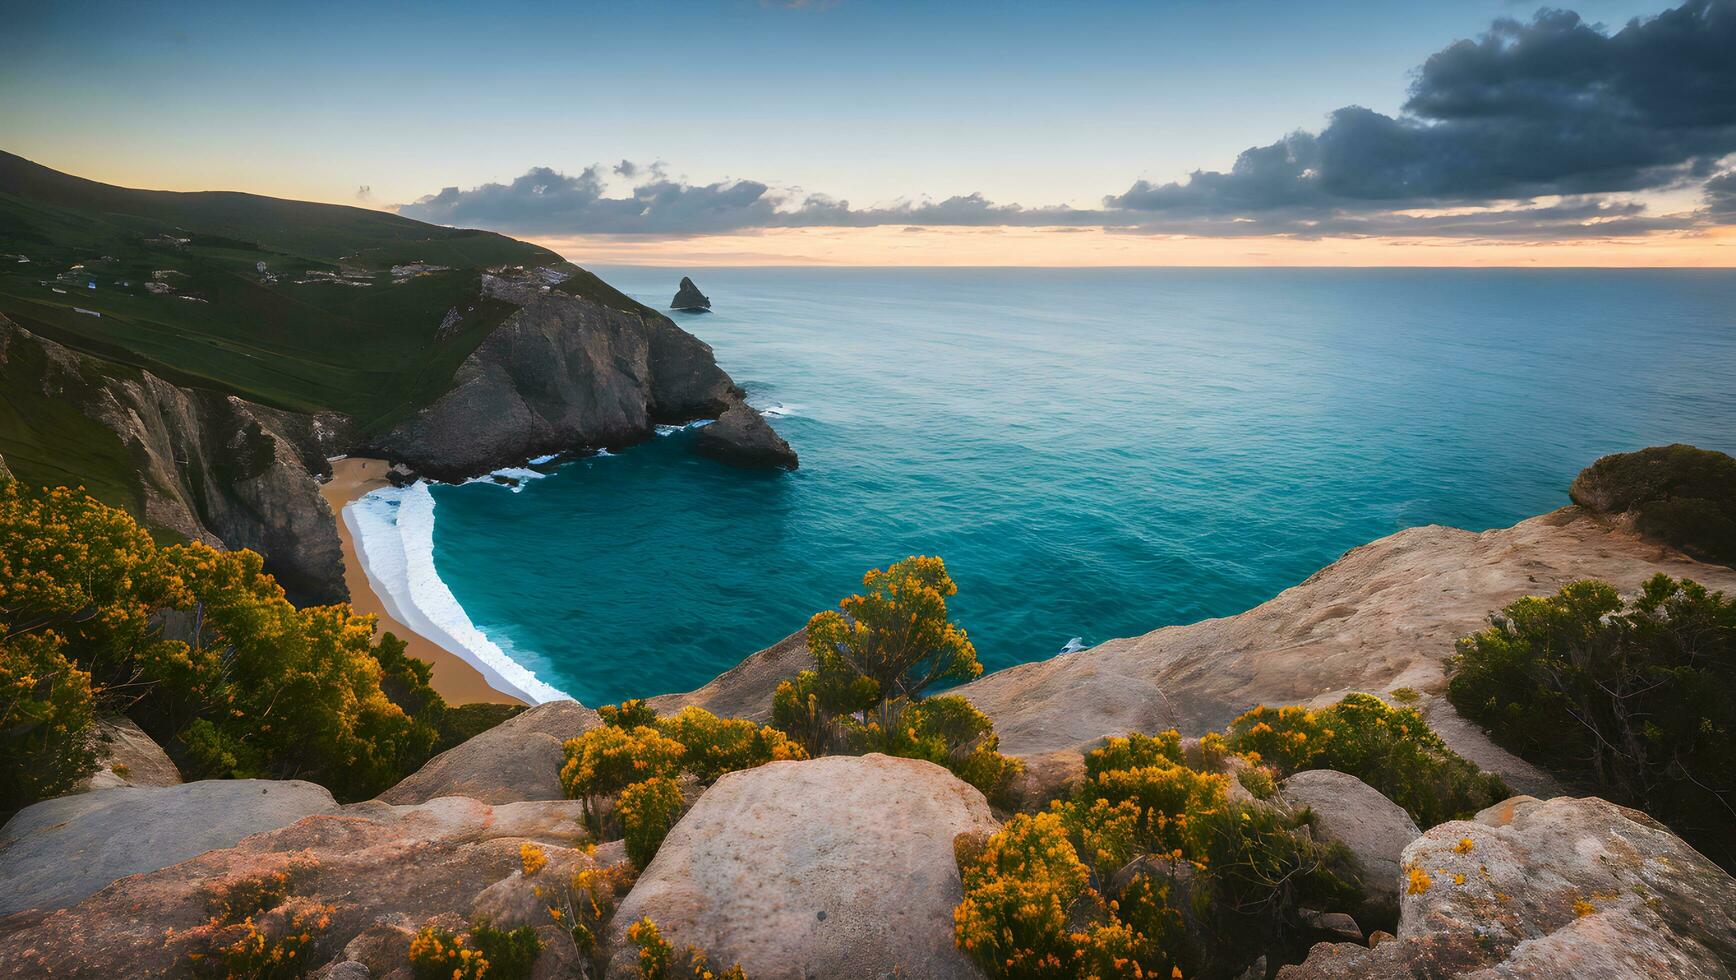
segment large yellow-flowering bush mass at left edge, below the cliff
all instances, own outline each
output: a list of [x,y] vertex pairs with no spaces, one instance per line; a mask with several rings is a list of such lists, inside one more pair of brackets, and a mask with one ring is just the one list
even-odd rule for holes
[[446,708],[399,640],[347,605],[297,609],[257,553],[158,545],[122,510],[16,480],[0,486],[0,696],[3,812],[89,775],[97,711],[189,777],[363,800],[429,758]]

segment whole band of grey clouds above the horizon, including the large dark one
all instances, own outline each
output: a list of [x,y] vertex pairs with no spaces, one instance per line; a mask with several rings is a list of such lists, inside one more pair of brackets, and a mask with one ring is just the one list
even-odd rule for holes
[[[821,225],[1493,239],[1696,229],[1736,220],[1733,52],[1736,0],[1686,0],[1613,33],[1568,10],[1503,17],[1430,56],[1397,116],[1345,106],[1319,132],[1245,149],[1226,172],[1135,180],[1101,208],[983,194],[856,208],[759,180],[689,184],[623,160],[446,187],[399,212],[521,234],[663,238]],[[609,175],[635,184],[611,196]],[[1700,210],[1656,215],[1635,199],[1696,186]]]

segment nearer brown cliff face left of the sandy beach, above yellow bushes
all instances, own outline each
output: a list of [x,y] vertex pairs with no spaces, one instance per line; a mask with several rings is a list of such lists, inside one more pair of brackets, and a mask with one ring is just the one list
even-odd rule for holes
[[[220,548],[253,548],[295,602],[347,598],[323,448],[345,423],[116,369],[0,317],[0,361],[28,359],[45,399],[108,428],[137,475],[144,519]],[[10,380],[9,380],[10,383]],[[75,448],[66,446],[66,451]]]

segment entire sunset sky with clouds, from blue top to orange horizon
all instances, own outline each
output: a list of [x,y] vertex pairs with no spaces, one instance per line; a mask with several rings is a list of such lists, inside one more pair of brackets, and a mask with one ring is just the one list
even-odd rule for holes
[[580,262],[1736,265],[1736,0],[0,0],[0,147]]

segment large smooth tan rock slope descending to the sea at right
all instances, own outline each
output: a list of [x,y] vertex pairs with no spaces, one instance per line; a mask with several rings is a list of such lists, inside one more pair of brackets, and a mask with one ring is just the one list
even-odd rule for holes
[[[1035,755],[1104,735],[1217,730],[1255,704],[1325,704],[1352,690],[1446,689],[1460,637],[1521,595],[1599,578],[1635,590],[1656,572],[1736,591],[1736,571],[1609,527],[1578,506],[1514,527],[1413,527],[1345,553],[1302,585],[1240,616],[1167,626],[1088,650],[1007,668],[967,685],[995,720],[1002,751]],[[1430,725],[1516,789],[1559,784],[1424,699]]]

